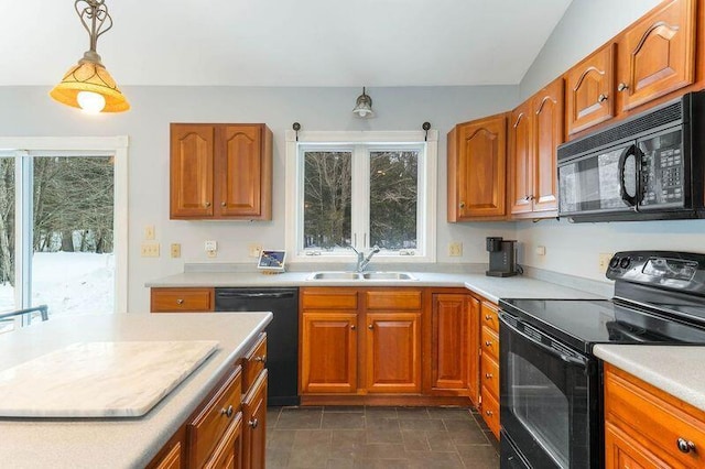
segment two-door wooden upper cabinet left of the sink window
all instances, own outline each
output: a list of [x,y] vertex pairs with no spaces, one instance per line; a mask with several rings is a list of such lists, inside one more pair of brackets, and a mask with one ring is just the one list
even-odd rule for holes
[[272,218],[272,132],[261,123],[171,124],[171,218]]

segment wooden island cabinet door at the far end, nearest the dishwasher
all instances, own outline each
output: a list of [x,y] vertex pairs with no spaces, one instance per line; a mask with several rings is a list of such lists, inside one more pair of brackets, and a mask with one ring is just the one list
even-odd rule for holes
[[264,469],[267,447],[267,370],[242,401],[242,468]]

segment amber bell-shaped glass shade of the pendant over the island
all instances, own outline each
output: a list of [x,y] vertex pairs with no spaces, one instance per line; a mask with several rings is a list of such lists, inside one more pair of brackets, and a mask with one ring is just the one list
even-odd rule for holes
[[[82,106],[82,102],[96,101],[95,97],[94,100],[86,99],[85,92],[100,95],[105,99],[104,108],[95,110],[95,105],[93,107],[86,105],[91,109]],[[120,92],[106,67],[85,58],[70,67],[64,79],[50,91],[50,96],[63,105],[80,108],[87,112],[122,112],[130,109],[130,103]]]

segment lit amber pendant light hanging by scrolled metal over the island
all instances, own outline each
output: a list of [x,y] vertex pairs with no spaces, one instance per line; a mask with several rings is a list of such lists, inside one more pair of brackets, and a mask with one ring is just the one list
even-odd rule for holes
[[96,52],[98,37],[112,28],[105,0],[76,0],[74,9],[90,39],[90,48],[78,64],[66,73],[62,81],[50,91],[58,102],[80,108],[85,112],[122,112],[130,103],[100,62]]

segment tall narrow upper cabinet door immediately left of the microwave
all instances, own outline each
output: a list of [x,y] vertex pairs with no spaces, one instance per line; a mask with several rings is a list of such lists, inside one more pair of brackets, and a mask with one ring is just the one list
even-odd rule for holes
[[[563,78],[534,95],[532,210],[557,210],[556,149],[563,143]],[[549,214],[552,216],[553,214]]]

